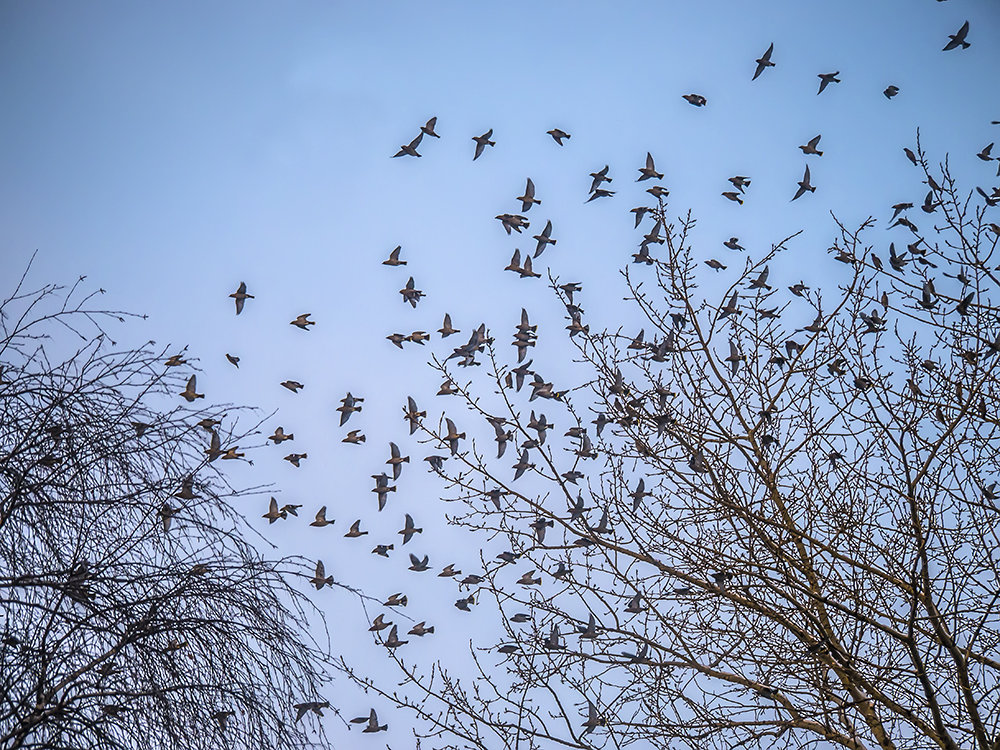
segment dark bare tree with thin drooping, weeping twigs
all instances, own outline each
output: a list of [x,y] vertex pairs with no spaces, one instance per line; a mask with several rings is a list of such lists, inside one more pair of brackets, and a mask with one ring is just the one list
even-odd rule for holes
[[117,348],[79,282],[24,283],[0,304],[0,747],[321,740],[304,568],[260,556],[217,468],[240,410],[175,406],[183,352]]

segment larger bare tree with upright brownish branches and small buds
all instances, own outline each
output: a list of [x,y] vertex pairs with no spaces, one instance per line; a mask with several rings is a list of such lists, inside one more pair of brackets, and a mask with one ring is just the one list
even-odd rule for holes
[[526,312],[517,364],[485,329],[435,359],[459,403],[420,426],[452,522],[509,545],[466,582],[502,632],[464,680],[393,651],[402,691],[366,684],[468,747],[996,750],[1000,226],[914,161],[924,213],[888,248],[838,222],[822,289],[778,283],[795,236],[705,284],[661,198],[635,328],[551,279],[578,382]]

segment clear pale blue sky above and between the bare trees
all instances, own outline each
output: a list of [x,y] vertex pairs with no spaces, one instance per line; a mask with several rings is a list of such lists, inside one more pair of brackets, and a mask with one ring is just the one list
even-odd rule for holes
[[[942,52],[967,19],[971,48]],[[771,42],[776,67],[751,82]],[[539,322],[536,362],[557,387],[560,376],[571,384],[558,343],[566,323],[544,281],[502,271],[515,247],[534,245],[493,219],[516,212],[525,178],[542,200],[527,234],[551,219],[558,239],[536,270],[583,283],[592,327],[633,332],[617,269],[640,239],[628,209],[648,200],[650,183],[634,182],[647,151],[672,210],[699,221],[698,257],[739,266],[726,238],[755,256],[801,229],[772,280],[829,282],[842,272],[824,252],[831,212],[848,227],[874,215],[877,238],[889,206],[922,201],[902,152],[918,127],[932,161],[950,155],[964,187],[997,184],[996,162],[975,156],[1000,139],[997,70],[995,0],[5,2],[0,281],[12,288],[37,249],[36,282],[87,275],[109,307],[149,316],[116,331],[121,342],[186,345],[209,399],[278,409],[257,444],[277,424],[296,441],[226,470],[237,483],[273,483],[305,517],[264,531],[265,497],[247,501],[251,522],[281,552],[323,557],[373,596],[408,592],[408,614],[437,626],[407,647],[422,660],[467,643],[471,623],[485,632],[489,614],[458,613],[453,583],[405,570],[394,534],[403,513],[428,529],[403,552],[430,553],[438,569],[475,570],[480,544],[488,558],[499,551],[444,528],[420,461],[433,451],[406,437],[408,393],[431,416],[447,403],[433,396],[428,350],[450,353],[480,322],[507,341],[523,306]],[[817,74],[832,71],[843,82],[817,96]],[[891,101],[890,84],[900,89]],[[688,93],[708,105],[692,107]],[[420,159],[390,158],[431,116],[441,139],[425,138]],[[545,134],[553,127],[572,134],[562,148]],[[488,128],[497,145],[473,163],[471,137]],[[825,155],[803,156],[796,147],[820,133]],[[789,203],[807,159],[817,190]],[[605,164],[617,194],[584,205],[588,173]],[[742,206],[720,196],[735,174],[752,179]],[[409,265],[382,266],[397,244]],[[410,274],[427,293],[416,310],[397,292]],[[241,280],[257,299],[237,318],[227,295]],[[446,311],[462,334],[403,352],[385,340],[434,331]],[[303,312],[317,321],[308,333],[288,325]],[[239,370],[225,352],[242,358]],[[287,392],[286,378],[305,389]],[[367,433],[364,446],[340,443],[334,408],[347,390],[366,398],[349,423]],[[414,464],[377,514],[369,475],[389,440]],[[281,460],[289,446],[309,453],[299,470]],[[322,504],[336,526],[308,528]],[[371,535],[343,539],[355,518]],[[368,554],[393,538],[393,559]],[[383,649],[354,601],[315,598],[331,607],[335,649],[377,671]],[[347,716],[370,703],[344,680],[328,697]],[[407,717],[385,708],[383,718],[390,744],[405,742]]]

